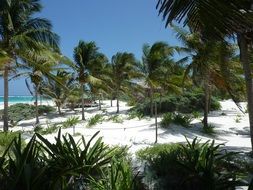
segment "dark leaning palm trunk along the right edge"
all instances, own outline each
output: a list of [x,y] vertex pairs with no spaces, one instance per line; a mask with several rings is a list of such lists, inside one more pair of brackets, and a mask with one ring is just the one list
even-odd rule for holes
[[244,78],[247,92],[248,101],[248,114],[249,114],[249,126],[250,126],[250,137],[251,137],[251,148],[253,151],[253,81],[252,72],[249,62],[249,51],[246,36],[244,34],[238,35],[238,44],[240,47],[240,58],[244,70]]

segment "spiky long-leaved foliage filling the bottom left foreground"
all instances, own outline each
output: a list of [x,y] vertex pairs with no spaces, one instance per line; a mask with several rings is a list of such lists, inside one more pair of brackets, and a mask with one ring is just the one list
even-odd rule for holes
[[36,134],[25,146],[15,137],[0,155],[1,189],[122,189],[124,179],[130,190],[135,175],[125,149],[108,147],[98,133],[76,142],[59,130],[55,143]]

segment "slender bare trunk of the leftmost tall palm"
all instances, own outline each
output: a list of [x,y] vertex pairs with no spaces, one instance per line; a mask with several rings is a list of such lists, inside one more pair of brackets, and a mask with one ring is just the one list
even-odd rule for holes
[[3,115],[3,120],[4,120],[4,131],[8,131],[9,126],[8,126],[8,98],[9,98],[9,66],[5,65],[4,67],[4,115]]

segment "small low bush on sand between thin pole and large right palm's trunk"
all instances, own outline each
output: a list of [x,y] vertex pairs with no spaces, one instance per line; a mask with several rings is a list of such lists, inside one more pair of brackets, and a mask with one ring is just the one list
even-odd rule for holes
[[192,117],[186,114],[181,113],[166,113],[163,114],[162,120],[161,120],[161,127],[166,128],[169,127],[171,123],[181,125],[183,127],[189,127],[192,121]]

